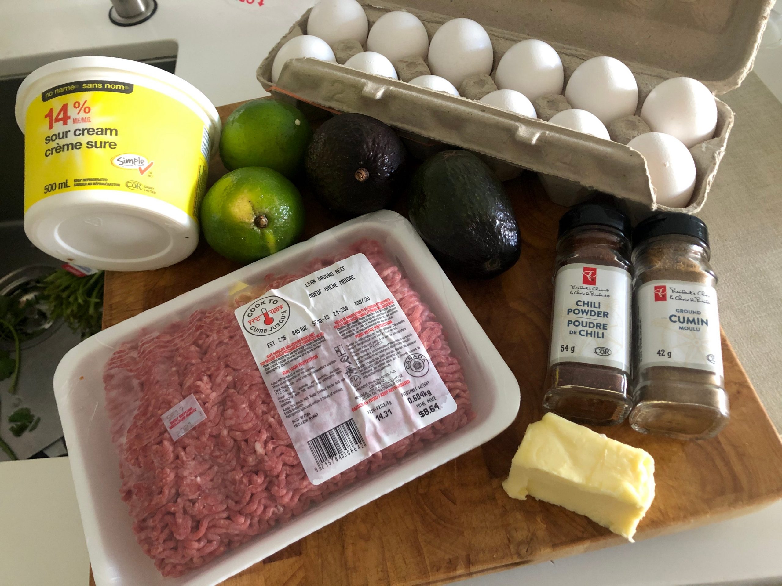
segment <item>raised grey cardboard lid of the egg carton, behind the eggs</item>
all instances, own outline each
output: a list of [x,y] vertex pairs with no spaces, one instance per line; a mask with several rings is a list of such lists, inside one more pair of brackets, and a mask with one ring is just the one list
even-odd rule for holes
[[[411,13],[425,9],[447,18],[472,18],[484,27],[546,41],[560,55],[579,61],[611,55],[633,73],[661,80],[693,77],[720,95],[737,88],[752,70],[773,0],[400,0],[395,4],[371,3]],[[567,78],[572,70],[565,59],[562,63]]]

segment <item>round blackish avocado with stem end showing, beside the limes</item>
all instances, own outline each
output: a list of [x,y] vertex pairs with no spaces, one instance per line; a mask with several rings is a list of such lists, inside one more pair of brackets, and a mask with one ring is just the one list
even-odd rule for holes
[[406,159],[402,141],[386,124],[342,114],[317,129],[304,165],[326,207],[359,216],[386,207],[404,190]]

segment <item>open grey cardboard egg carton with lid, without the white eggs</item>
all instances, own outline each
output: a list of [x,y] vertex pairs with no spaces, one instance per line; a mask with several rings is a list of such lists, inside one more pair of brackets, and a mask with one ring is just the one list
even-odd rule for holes
[[[693,77],[715,95],[737,88],[752,70],[773,0],[360,3],[370,26],[383,13],[402,9],[418,16],[430,39],[447,20],[476,20],[491,38],[495,68],[518,41],[546,41],[560,55],[565,86],[581,63],[610,55],[636,77],[638,113],[649,91],[670,77]],[[305,34],[308,16],[305,13],[260,64],[256,76],[267,91],[338,112],[373,116],[408,133],[571,180],[645,209],[672,209],[656,202],[640,153],[618,142],[317,59],[289,60],[273,84],[274,56],[285,42]],[[714,138],[691,148],[696,181],[690,205],[677,211],[701,209],[716,177],[734,122],[730,107],[719,99],[716,104]]]

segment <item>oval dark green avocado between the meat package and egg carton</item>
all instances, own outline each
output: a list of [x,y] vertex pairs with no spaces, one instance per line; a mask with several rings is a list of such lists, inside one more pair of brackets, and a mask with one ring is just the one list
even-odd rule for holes
[[497,175],[468,151],[443,151],[418,168],[407,191],[410,221],[443,266],[494,277],[521,254],[518,223]]

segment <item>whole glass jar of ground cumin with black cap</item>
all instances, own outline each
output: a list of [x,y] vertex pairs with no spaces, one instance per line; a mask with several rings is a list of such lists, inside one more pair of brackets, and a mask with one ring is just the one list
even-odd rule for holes
[[673,438],[716,435],[730,416],[705,223],[657,213],[633,234],[635,360],[630,424]]

